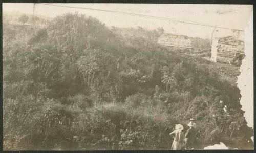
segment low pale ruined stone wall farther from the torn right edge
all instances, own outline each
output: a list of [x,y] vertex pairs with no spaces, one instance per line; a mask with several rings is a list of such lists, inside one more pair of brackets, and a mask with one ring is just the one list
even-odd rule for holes
[[183,35],[164,33],[158,38],[157,42],[165,46],[187,48],[187,49],[192,48],[191,40],[189,39],[189,37],[183,36]]

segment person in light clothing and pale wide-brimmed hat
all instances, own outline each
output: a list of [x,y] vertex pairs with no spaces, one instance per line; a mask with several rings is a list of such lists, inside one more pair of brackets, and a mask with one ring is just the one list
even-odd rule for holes
[[181,150],[184,142],[184,133],[182,132],[183,126],[181,124],[175,125],[175,130],[170,135],[175,134],[171,150]]

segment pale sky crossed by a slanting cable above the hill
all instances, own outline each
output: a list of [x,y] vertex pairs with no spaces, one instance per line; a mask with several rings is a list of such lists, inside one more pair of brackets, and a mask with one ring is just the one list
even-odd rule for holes
[[[178,20],[189,20],[204,23],[207,25],[221,26],[233,29],[244,30],[247,21],[252,13],[252,5],[212,5],[212,4],[57,4],[72,7],[84,7],[93,9],[103,9],[136,13],[143,15],[168,17]],[[21,13],[32,14],[33,3],[3,3],[4,12],[18,11]],[[35,14],[55,17],[63,13],[81,13],[87,16],[98,18],[106,26],[116,27],[143,27],[156,29],[162,27],[166,32],[182,34],[193,37],[210,38],[212,27],[177,23],[174,21],[156,20],[138,16],[129,16],[111,12],[95,10],[84,10],[74,8],[63,8],[48,5],[35,5]],[[220,31],[222,35],[230,35],[231,30]]]

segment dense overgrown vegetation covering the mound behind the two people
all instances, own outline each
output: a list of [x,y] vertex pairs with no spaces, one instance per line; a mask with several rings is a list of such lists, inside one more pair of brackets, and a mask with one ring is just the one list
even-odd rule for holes
[[191,117],[198,148],[253,147],[229,79],[236,76],[157,45],[162,29],[109,29],[66,14],[31,30],[26,42],[15,41],[17,31],[4,25],[5,150],[169,149],[168,133],[176,123],[186,130]]

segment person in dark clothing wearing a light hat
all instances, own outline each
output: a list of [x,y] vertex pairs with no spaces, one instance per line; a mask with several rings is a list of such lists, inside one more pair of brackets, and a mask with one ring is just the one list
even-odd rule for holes
[[185,149],[186,150],[190,150],[190,149],[194,149],[196,146],[196,140],[197,140],[197,135],[198,135],[198,130],[195,127],[195,123],[193,123],[192,121],[190,121],[188,124],[189,129],[187,130],[186,134],[185,134]]

